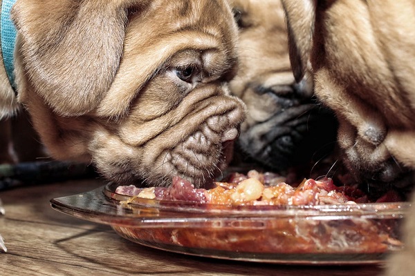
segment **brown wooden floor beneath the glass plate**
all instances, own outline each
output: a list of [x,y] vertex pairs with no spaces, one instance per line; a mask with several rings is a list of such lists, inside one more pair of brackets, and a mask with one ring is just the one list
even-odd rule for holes
[[378,266],[282,266],[167,253],[122,239],[109,226],[64,215],[49,200],[104,183],[67,181],[0,193],[0,275],[379,275]]

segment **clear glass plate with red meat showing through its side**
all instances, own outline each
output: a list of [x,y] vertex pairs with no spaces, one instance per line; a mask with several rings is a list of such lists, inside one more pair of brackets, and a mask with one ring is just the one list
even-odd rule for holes
[[334,206],[223,206],[131,199],[107,184],[51,199],[118,235],[176,253],[281,264],[377,264],[403,248],[398,229],[409,203]]

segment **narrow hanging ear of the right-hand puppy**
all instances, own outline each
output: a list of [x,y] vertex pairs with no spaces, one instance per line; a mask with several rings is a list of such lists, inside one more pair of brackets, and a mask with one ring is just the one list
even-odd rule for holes
[[317,0],[282,0],[286,14],[291,68],[297,82],[306,73],[313,43],[316,2]]

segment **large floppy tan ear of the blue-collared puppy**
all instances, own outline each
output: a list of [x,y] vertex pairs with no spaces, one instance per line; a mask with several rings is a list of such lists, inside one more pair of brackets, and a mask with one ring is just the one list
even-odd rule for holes
[[35,90],[55,112],[82,115],[98,106],[118,70],[127,10],[145,2],[15,3],[12,19],[19,34],[19,55]]

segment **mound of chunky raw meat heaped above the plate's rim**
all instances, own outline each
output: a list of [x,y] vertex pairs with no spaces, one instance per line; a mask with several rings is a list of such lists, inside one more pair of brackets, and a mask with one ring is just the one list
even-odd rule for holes
[[[246,175],[234,172],[226,181],[215,182],[215,187],[208,190],[194,188],[190,181],[174,177],[169,188],[118,186],[116,193],[128,195],[131,200],[140,197],[227,205],[315,206],[369,202],[367,195],[356,186],[335,186],[333,179],[329,177],[320,180],[304,179],[301,184],[293,186],[286,184],[284,177],[280,175],[273,172],[261,173],[257,170],[250,170]],[[378,200],[398,199],[391,192]]]

